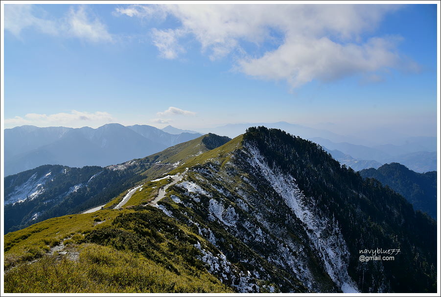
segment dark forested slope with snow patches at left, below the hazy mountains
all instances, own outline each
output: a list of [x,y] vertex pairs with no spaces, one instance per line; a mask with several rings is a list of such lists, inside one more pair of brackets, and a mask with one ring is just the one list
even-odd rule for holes
[[98,166],[43,165],[8,176],[4,178],[4,229],[24,228],[107,203],[136,181],[131,172]]

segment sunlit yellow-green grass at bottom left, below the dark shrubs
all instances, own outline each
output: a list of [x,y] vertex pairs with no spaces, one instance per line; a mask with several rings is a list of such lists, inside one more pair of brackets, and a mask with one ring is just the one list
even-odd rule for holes
[[229,292],[214,277],[176,274],[139,253],[82,244],[78,261],[46,256],[5,274],[8,293]]

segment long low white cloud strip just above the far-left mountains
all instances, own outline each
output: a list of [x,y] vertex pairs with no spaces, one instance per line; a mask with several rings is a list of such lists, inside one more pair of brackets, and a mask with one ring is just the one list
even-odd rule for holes
[[107,112],[87,113],[72,110],[69,114],[25,114],[24,117],[15,116],[13,118],[6,118],[4,120],[4,123],[5,126],[8,127],[21,125],[35,125],[39,127],[57,125],[68,127],[83,127],[86,125],[99,126],[113,121],[114,119],[112,115]]

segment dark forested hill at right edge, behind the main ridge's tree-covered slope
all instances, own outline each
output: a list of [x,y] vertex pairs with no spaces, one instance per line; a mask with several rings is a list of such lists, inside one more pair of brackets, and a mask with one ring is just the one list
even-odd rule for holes
[[437,172],[417,173],[399,163],[384,164],[378,169],[361,170],[364,178],[374,178],[390,186],[415,208],[437,218]]

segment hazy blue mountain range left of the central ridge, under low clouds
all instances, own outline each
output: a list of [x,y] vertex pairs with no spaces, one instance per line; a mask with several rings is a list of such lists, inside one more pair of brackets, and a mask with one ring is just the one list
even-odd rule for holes
[[[99,128],[21,126],[4,130],[4,174],[45,164],[106,166],[142,158],[201,134],[148,125],[106,124]],[[164,128],[165,129],[165,128]]]

